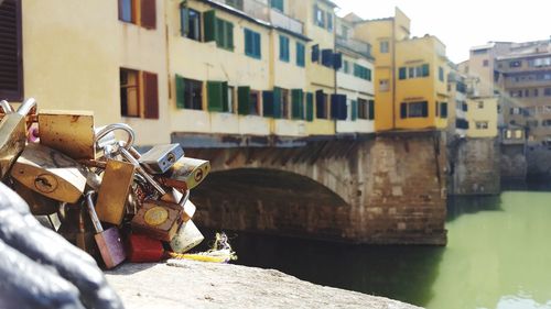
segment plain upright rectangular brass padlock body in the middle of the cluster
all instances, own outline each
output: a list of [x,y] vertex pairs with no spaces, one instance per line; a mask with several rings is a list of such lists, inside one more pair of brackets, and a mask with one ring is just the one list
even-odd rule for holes
[[134,165],[108,159],[104,179],[99,187],[96,212],[102,222],[120,225],[134,176]]

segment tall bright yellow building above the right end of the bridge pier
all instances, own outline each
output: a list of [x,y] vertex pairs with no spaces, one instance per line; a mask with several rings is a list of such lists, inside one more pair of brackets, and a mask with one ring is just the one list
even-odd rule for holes
[[356,23],[355,36],[374,46],[376,131],[447,125],[445,46],[432,35],[410,38],[410,20],[395,16]]

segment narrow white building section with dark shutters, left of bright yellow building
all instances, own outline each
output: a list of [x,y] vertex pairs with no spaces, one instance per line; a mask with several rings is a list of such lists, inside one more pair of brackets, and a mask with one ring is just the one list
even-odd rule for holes
[[337,71],[337,93],[346,96],[346,120],[337,121],[337,133],[375,132],[375,89],[371,45],[354,40],[353,13],[337,19],[336,52],[342,55]]

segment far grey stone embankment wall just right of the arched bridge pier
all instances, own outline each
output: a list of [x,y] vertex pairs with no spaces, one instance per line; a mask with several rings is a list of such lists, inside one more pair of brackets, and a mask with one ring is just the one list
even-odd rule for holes
[[449,144],[449,194],[499,195],[500,151],[497,139],[461,139]]

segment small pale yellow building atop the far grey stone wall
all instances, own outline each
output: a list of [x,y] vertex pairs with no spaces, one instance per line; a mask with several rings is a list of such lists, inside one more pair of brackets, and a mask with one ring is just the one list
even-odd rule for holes
[[467,99],[468,137],[496,137],[498,97]]

